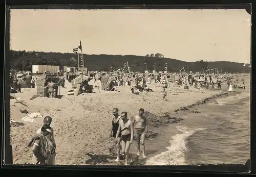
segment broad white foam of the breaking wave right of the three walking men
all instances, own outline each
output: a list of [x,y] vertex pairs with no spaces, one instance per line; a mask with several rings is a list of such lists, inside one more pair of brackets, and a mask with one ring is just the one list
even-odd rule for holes
[[181,133],[172,136],[169,140],[170,146],[166,147],[168,150],[149,158],[145,165],[186,165],[186,138],[205,128],[189,129],[183,126],[178,126],[176,128]]

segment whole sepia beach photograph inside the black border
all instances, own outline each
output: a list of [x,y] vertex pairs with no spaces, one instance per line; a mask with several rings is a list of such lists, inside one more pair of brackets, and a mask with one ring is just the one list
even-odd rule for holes
[[248,163],[250,41],[243,9],[11,9],[13,163]]

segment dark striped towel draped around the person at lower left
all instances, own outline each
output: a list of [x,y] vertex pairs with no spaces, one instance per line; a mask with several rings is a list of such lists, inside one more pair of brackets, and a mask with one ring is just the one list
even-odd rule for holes
[[42,134],[35,134],[29,141],[28,147],[32,147],[35,140],[40,141],[39,148],[40,148],[40,153],[41,153],[42,157],[49,159],[51,156],[51,153],[53,151],[53,148],[54,148],[53,141],[50,138],[48,138]]

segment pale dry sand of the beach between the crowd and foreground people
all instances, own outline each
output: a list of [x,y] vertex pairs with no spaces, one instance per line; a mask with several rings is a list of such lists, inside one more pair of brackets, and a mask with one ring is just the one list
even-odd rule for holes
[[[69,84],[69,83],[68,83]],[[223,91],[184,90],[171,86],[168,91],[168,100],[162,100],[162,88],[158,84],[150,86],[154,92],[144,92],[139,95],[129,93],[129,86],[122,86],[118,91],[101,93],[84,93],[78,96],[65,95],[70,89],[61,88],[64,94],[61,99],[37,97],[36,89],[23,89],[22,104],[10,102],[10,116],[14,121],[21,122],[27,114],[21,113],[26,109],[29,113],[39,112],[43,117],[50,115],[53,118],[52,127],[55,130],[57,144],[56,164],[76,165],[88,164],[90,159],[87,153],[110,155],[115,142],[109,138],[112,109],[117,107],[120,112],[127,111],[129,118],[137,114],[139,108],[148,113],[163,116],[166,112],[175,114],[175,110],[192,105]],[[96,89],[97,91],[97,89]],[[18,94],[17,94],[18,95]],[[11,144],[13,147],[14,164],[30,163],[32,152],[27,148],[31,136],[43,122],[43,117],[35,118],[35,122],[24,122],[25,125],[11,127]],[[156,122],[151,117],[150,128]],[[154,133],[154,132],[153,132]],[[107,164],[107,163],[106,163]]]

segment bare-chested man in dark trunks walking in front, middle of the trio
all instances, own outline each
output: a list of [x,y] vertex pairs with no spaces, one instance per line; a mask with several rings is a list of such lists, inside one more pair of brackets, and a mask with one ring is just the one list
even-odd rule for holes
[[[121,146],[122,150],[124,149],[125,154],[125,165],[128,165],[129,161],[129,150],[130,146],[133,143],[133,134],[134,134],[134,128],[133,128],[133,122],[127,118],[127,112],[122,112],[121,119],[119,120],[119,127],[117,130],[117,135],[121,131]],[[116,137],[116,141],[118,137]],[[116,146],[118,146],[117,144]],[[132,159],[131,159],[132,162]]]

